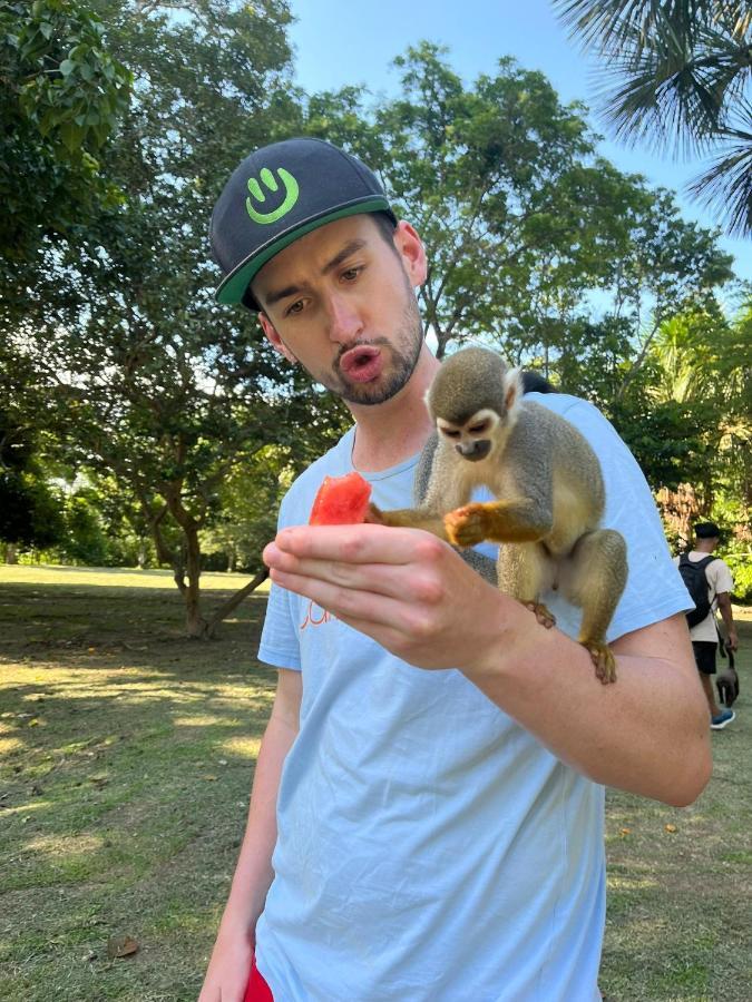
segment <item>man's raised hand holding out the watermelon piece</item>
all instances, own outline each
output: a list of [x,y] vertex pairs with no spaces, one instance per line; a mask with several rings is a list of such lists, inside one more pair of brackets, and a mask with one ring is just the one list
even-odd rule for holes
[[280,532],[264,561],[277,584],[420,668],[480,666],[515,623],[539,628],[451,547],[417,529],[300,525]]

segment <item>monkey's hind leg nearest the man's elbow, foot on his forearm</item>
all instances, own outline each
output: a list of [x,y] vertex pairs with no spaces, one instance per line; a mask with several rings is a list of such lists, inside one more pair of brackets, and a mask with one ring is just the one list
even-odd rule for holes
[[583,610],[577,640],[589,651],[600,681],[616,681],[616,661],[606,644],[606,630],[626,584],[624,537],[614,529],[587,532],[561,568],[561,591]]

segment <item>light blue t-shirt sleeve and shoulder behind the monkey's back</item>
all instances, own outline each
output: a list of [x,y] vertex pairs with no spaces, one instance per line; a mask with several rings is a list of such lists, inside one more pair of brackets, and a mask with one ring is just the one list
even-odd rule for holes
[[655,501],[634,456],[612,424],[593,404],[566,397],[561,413],[595,450],[606,488],[603,524],[618,530],[627,546],[628,576],[607,639],[693,608],[672,561]]

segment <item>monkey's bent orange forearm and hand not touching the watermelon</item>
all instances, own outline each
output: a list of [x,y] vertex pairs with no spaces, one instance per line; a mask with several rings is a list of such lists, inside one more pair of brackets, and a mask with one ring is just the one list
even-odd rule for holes
[[449,542],[471,547],[494,542],[535,542],[551,530],[551,512],[526,498],[514,501],[472,502],[443,518]]

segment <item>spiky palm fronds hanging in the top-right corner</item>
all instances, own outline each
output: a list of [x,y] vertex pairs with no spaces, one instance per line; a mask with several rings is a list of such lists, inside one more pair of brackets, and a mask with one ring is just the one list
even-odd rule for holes
[[740,0],[554,0],[604,58],[616,136],[676,156],[711,155],[690,194],[732,235],[752,236],[752,9]]

